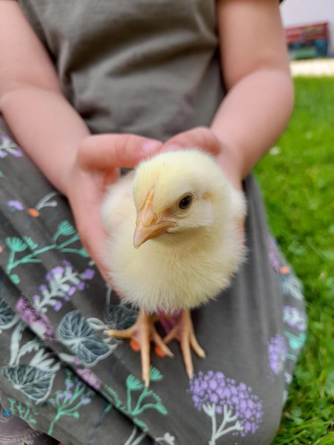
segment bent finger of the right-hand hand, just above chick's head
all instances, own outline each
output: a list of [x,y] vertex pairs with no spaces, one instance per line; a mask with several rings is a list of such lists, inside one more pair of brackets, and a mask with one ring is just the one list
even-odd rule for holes
[[217,156],[221,151],[221,143],[208,128],[196,127],[173,136],[165,143],[163,150],[173,151],[180,148],[201,148]]

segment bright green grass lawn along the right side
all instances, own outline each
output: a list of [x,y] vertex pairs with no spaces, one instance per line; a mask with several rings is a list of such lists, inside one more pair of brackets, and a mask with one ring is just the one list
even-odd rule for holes
[[334,444],[334,78],[295,79],[278,154],[256,167],[271,228],[304,284],[307,343],[273,444]]

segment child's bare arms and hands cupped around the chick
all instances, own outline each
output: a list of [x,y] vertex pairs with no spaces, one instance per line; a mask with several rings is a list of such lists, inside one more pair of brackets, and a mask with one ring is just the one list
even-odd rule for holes
[[165,144],[131,134],[91,135],[62,95],[48,53],[17,2],[1,0],[0,17],[0,113],[20,146],[68,198],[83,244],[104,277],[106,233],[99,206],[104,186],[117,180],[121,166],[135,167],[162,149],[200,146],[217,156],[241,189],[242,178],[283,132],[291,113],[278,0],[217,1],[227,96],[210,128],[177,134]]

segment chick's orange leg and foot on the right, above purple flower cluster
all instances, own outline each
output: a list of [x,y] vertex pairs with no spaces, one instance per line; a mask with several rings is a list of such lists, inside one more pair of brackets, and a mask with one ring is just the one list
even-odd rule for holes
[[177,321],[173,329],[163,339],[163,342],[167,344],[174,338],[176,338],[180,342],[183,361],[186,366],[186,372],[189,379],[191,380],[193,375],[191,348],[200,358],[205,357],[205,352],[199,346],[195,334],[193,332],[191,314],[188,309],[181,312],[179,320]]

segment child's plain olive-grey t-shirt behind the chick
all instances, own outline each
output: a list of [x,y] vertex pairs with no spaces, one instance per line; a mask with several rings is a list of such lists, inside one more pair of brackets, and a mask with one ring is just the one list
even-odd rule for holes
[[93,133],[166,140],[224,92],[214,0],[19,0]]

